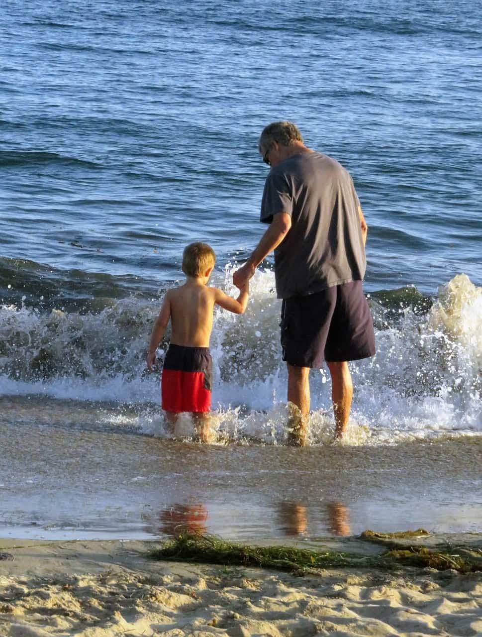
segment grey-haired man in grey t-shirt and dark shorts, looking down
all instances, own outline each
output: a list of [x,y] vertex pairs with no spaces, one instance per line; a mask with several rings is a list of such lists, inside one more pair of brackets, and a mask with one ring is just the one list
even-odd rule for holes
[[[367,224],[350,174],[307,148],[291,122],[274,122],[258,148],[271,170],[260,220],[269,224],[259,245],[233,276],[241,288],[274,250],[281,310],[281,345],[288,367],[292,441],[308,434],[309,369],[327,362],[332,378],[336,437],[348,425],[353,385],[347,361],[374,355],[369,306],[362,291]],[[299,410],[299,411],[298,411]]]

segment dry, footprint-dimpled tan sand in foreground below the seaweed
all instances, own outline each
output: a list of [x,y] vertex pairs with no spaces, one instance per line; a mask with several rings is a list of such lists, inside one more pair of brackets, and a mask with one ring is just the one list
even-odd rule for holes
[[330,569],[296,577],[153,562],[153,546],[0,541],[0,635],[482,635],[480,574]]

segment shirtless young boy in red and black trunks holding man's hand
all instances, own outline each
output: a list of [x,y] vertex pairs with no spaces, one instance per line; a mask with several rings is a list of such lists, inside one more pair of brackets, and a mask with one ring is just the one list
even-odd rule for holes
[[208,287],[215,261],[213,248],[206,243],[191,243],[185,248],[182,269],[186,282],[167,290],[147,354],[147,366],[152,369],[155,351],[170,318],[171,344],[164,358],[160,383],[162,409],[173,431],[180,412],[192,413],[195,433],[202,442],[211,441],[209,411],[213,361],[209,354],[209,338],[214,306],[243,314],[249,292],[246,284],[237,299],[233,299],[216,287]]

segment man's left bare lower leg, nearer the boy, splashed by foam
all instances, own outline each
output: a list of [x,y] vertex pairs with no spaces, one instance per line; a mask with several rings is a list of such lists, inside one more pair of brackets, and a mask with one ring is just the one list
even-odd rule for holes
[[[308,436],[309,367],[287,364],[288,368],[288,426],[289,443],[304,447]],[[290,403],[297,409],[290,408]]]

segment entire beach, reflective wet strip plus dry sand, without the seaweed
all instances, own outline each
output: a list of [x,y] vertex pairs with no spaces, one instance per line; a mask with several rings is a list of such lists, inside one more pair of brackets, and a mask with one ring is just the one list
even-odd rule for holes
[[107,427],[98,415],[66,426],[64,415],[0,419],[1,637],[482,633],[479,573],[300,578],[146,555],[182,530],[376,554],[383,547],[360,543],[362,530],[426,527],[482,548],[481,438],[202,446]]

